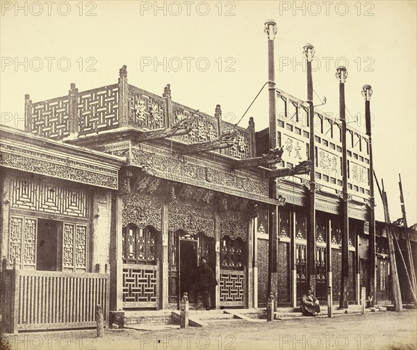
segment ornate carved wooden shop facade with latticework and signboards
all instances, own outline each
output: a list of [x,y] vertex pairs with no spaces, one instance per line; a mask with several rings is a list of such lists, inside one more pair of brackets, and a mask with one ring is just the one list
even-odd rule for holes
[[[255,133],[252,118],[247,128],[234,126],[222,120],[219,105],[211,116],[172,101],[170,85],[162,97],[136,88],[127,83],[126,66],[114,85],[79,92],[72,84],[69,94],[40,102],[26,95],[26,130],[1,129],[1,274],[3,285],[15,285],[13,303],[3,303],[1,313],[13,310],[13,330],[88,324],[97,300],[87,294],[108,299],[107,310],[177,308],[183,292],[197,303],[193,272],[202,257],[219,282],[211,295],[215,307],[265,306],[268,212],[275,206],[277,301],[297,305],[306,290],[307,254],[316,256],[316,294],[324,298],[332,283],[336,301],[340,128],[318,113],[317,242],[310,252],[307,177],[279,178],[278,199],[268,189],[268,165],[291,168],[309,154],[305,103],[284,92],[279,97],[282,149],[269,150],[268,130]],[[366,135],[349,133],[354,302],[367,283],[369,155]],[[383,249],[383,237],[377,247]],[[109,274],[97,274],[97,264]],[[100,289],[95,278],[108,285],[101,282]],[[22,288],[32,297],[19,294]],[[73,295],[55,316],[49,310],[60,303],[47,297],[51,291]],[[88,315],[74,313],[83,306]]]

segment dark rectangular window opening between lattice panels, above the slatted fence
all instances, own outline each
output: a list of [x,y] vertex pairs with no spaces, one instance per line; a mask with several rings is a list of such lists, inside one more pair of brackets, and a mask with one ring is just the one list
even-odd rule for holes
[[58,268],[58,222],[38,219],[36,269],[57,271]]

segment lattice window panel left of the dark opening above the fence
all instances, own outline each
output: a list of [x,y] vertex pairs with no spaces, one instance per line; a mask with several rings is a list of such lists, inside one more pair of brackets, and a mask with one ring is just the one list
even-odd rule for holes
[[31,217],[10,217],[8,258],[17,267],[35,266],[38,220]]

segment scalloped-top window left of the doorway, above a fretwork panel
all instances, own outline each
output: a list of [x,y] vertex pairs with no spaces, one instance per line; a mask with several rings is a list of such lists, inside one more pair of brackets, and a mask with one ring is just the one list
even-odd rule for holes
[[156,265],[156,229],[126,225],[123,233],[123,262],[126,264]]

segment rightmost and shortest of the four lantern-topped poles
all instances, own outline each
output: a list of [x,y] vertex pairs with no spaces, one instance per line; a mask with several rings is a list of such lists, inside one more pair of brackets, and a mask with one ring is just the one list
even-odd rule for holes
[[370,85],[363,85],[362,96],[365,99],[365,124],[366,135],[369,138],[369,256],[370,256],[370,278],[369,278],[369,306],[373,308],[376,301],[377,278],[376,278],[376,256],[375,256],[375,194],[373,182],[373,153],[372,138],[370,132],[370,97],[372,88]]

